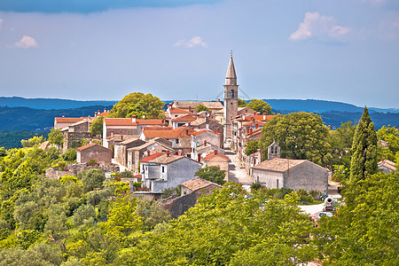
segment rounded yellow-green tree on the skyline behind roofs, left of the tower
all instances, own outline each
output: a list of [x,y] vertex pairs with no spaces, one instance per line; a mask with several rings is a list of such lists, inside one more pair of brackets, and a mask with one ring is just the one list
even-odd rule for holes
[[164,115],[161,110],[163,106],[165,103],[151,93],[133,92],[116,103],[108,117],[131,118],[134,114],[137,118],[142,118],[144,115],[145,118],[160,118]]

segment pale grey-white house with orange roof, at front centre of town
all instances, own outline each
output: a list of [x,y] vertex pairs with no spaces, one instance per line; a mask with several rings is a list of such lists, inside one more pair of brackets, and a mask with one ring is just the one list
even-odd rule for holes
[[192,180],[201,166],[200,162],[182,155],[154,153],[140,160],[140,174],[144,187],[150,192],[160,193]]

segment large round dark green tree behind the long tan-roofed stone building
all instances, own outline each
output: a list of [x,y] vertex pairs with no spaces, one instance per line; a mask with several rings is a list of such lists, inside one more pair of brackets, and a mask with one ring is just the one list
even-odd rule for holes
[[327,165],[331,159],[328,134],[327,127],[317,114],[280,114],[266,121],[262,129],[262,150],[267,151],[268,146],[276,141],[282,158]]

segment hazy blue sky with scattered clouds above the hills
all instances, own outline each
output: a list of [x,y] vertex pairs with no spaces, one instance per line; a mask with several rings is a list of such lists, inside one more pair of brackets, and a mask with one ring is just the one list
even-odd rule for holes
[[81,3],[0,1],[0,96],[211,100],[233,50],[250,98],[399,107],[396,0]]

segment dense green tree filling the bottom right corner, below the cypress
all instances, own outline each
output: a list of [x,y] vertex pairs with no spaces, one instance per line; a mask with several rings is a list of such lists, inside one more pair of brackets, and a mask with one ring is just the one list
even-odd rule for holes
[[319,222],[314,239],[326,265],[399,264],[399,174],[368,176],[362,188],[356,204]]

